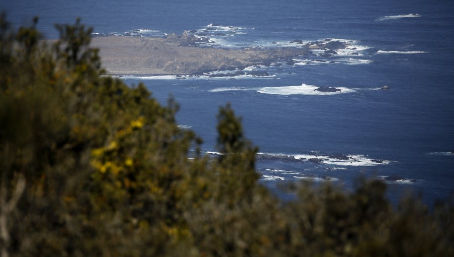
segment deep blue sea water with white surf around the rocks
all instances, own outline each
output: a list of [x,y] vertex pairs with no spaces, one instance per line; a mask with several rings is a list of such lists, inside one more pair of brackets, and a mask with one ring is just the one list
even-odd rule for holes
[[[272,190],[278,182],[301,179],[351,188],[355,178],[368,176],[385,180],[393,201],[408,190],[422,192],[427,203],[453,192],[452,1],[17,0],[0,3],[0,10],[16,27],[39,16],[47,38],[58,37],[53,24],[81,17],[96,33],[187,30],[209,37],[211,47],[348,42],[348,51],[331,57],[295,56],[294,65],[247,68],[273,75],[265,78],[124,79],[130,85],[142,81],[162,103],[172,95],[181,105],[178,122],[204,138],[205,151],[216,151],[218,106],[232,103],[246,136],[264,153],[257,169]],[[381,90],[383,85],[390,89]],[[319,86],[342,91],[321,94],[314,91]],[[335,154],[349,159],[329,157]]]

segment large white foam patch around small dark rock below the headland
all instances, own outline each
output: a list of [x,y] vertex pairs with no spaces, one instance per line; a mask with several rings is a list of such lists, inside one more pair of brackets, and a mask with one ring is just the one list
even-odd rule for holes
[[340,92],[320,92],[316,89],[318,86],[302,84],[301,86],[287,86],[287,87],[264,87],[256,89],[259,93],[264,94],[275,94],[275,95],[334,95],[356,92],[353,89],[346,87],[335,87],[341,89]]

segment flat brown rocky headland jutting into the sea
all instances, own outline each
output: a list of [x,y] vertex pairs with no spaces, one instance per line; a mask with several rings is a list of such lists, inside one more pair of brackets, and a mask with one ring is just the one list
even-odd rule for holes
[[314,55],[314,49],[325,49],[324,54],[330,55],[336,49],[347,47],[344,42],[326,39],[306,44],[294,40],[292,42],[298,45],[288,47],[221,49],[203,47],[204,40],[209,39],[186,33],[171,34],[166,38],[100,36],[92,38],[91,46],[100,49],[102,63],[110,75],[201,75],[213,71],[241,71],[250,66],[269,66],[273,62],[293,65],[294,57]]

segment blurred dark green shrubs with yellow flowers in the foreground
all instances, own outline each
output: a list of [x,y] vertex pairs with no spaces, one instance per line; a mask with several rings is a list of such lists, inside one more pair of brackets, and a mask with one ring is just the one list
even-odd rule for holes
[[60,40],[40,41],[0,18],[2,256],[454,255],[452,204],[393,208],[365,180],[299,184],[279,201],[229,105],[210,159],[175,102],[100,76],[91,29],[56,28]]

